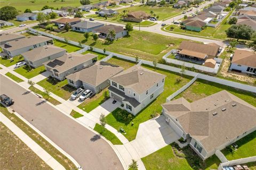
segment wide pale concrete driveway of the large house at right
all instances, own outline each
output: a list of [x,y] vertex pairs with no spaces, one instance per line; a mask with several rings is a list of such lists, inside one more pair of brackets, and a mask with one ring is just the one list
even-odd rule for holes
[[165,123],[165,117],[159,116],[141,123],[136,139],[130,143],[142,158],[178,139],[179,136]]

